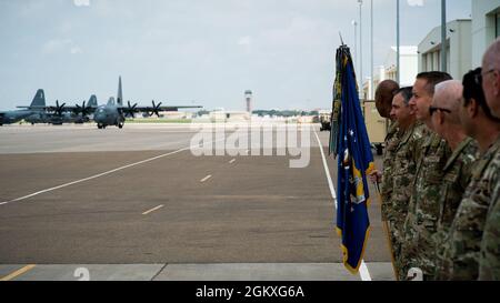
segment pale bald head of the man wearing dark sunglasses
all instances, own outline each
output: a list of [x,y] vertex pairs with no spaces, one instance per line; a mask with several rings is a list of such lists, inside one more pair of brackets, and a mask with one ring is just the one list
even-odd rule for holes
[[436,85],[432,107],[451,111],[446,115],[446,122],[460,124],[459,109],[462,104],[462,92],[463,85],[458,80],[448,80]]

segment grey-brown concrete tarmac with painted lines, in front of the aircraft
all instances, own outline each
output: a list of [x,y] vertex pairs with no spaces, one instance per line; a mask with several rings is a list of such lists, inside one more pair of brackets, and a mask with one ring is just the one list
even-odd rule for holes
[[[94,280],[359,280],[341,264],[314,134],[326,152],[328,133],[314,128],[309,164],[293,169],[297,156],[250,148],[194,156],[189,125],[2,127],[0,279],[78,280],[83,266]],[[371,192],[364,260],[391,280]]]

